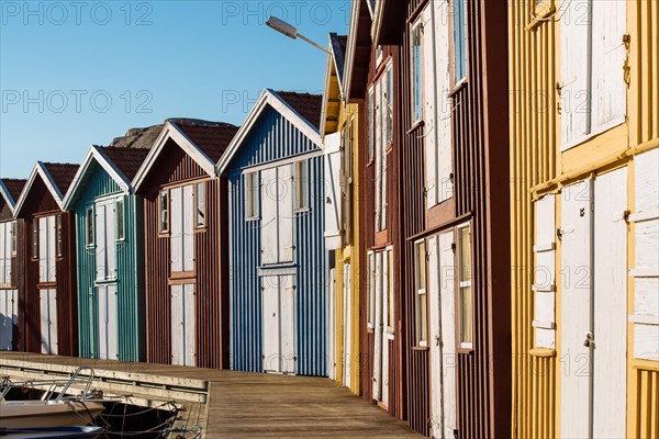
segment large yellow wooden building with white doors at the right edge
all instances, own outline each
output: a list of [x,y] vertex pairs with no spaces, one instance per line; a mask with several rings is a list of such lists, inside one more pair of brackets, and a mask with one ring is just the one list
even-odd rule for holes
[[512,430],[659,437],[659,2],[509,3]]

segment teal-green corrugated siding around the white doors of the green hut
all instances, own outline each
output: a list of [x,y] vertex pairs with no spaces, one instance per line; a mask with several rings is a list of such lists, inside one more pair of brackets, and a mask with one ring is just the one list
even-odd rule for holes
[[[116,294],[118,294],[118,340],[120,361],[144,360],[144,285],[138,281],[143,246],[138,241],[136,209],[142,210],[142,201],[136,196],[125,196],[119,184],[98,165],[89,168],[85,191],[78,198],[76,214],[78,248],[78,311],[80,325],[80,356],[98,358],[98,297],[96,288],[96,251],[87,248],[87,209],[94,199],[121,195],[124,199],[124,240],[116,243]],[[138,266],[139,263],[139,266]]]

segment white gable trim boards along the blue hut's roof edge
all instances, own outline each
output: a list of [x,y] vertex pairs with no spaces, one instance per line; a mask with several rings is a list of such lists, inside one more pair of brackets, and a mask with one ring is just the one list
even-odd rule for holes
[[300,113],[298,113],[298,111],[293,109],[288,102],[286,102],[286,100],[283,100],[279,94],[277,94],[277,92],[270,89],[266,89],[261,93],[256,105],[254,105],[254,108],[247,115],[245,123],[241,126],[235,137],[228,145],[226,153],[224,153],[224,155],[217,162],[217,175],[222,175],[224,172],[235,154],[238,151],[242,143],[247,138],[247,135],[252,131],[252,127],[256,124],[258,117],[268,105],[270,105],[272,109],[275,109],[275,111],[277,111],[283,117],[286,117],[289,122],[291,122],[291,124],[293,124],[295,128],[300,130],[302,134],[309,137],[311,142],[319,145],[320,148],[323,147],[323,142],[321,139],[319,130],[315,126],[313,126],[313,124],[310,121],[308,121]]

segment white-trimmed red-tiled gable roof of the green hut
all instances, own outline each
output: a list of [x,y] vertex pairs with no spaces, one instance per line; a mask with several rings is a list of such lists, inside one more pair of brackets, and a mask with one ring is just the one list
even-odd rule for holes
[[71,206],[79,190],[85,185],[85,176],[94,161],[108,172],[123,192],[130,193],[131,179],[137,172],[147,154],[148,149],[90,146],[85,155],[82,165],[78,168],[74,177],[74,183],[64,196],[64,209],[68,210]]

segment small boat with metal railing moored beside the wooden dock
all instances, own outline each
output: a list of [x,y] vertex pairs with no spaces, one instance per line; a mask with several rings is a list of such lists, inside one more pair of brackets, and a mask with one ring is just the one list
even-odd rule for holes
[[[82,370],[89,370],[85,378],[80,376]],[[14,383],[5,381],[0,384],[0,437],[22,438],[15,436],[19,429],[43,428],[54,431],[59,427],[78,427],[93,424],[96,418],[103,412],[102,394],[90,392],[89,387],[93,381],[93,369],[80,367],[76,369],[69,380],[35,380],[30,382]],[[80,393],[68,395],[76,389],[82,387]],[[41,399],[7,401],[11,389],[46,389]],[[78,427],[80,428],[80,427]],[[12,432],[10,432],[12,431]],[[72,434],[74,431],[64,431]],[[80,431],[78,431],[79,434]],[[30,436],[27,436],[30,437]],[[32,436],[46,437],[46,436]],[[68,437],[68,436],[54,436]],[[76,436],[80,437],[80,436]]]

